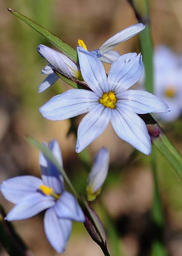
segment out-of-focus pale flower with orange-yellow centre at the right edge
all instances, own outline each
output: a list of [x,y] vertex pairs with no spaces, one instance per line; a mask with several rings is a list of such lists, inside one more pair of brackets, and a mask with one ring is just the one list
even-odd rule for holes
[[173,122],[182,113],[182,64],[180,56],[166,46],[154,51],[154,94],[162,99],[170,109],[168,113],[158,113],[164,122]]

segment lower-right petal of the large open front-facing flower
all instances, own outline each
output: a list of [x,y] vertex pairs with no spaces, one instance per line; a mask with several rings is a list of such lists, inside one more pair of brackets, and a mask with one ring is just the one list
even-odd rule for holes
[[145,122],[127,109],[112,110],[111,124],[116,134],[144,154],[151,153],[151,140]]

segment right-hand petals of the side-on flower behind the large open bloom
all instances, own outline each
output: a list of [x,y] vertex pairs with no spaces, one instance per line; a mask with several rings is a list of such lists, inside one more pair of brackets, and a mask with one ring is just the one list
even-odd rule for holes
[[135,25],[129,26],[122,31],[119,31],[117,34],[111,36],[107,41],[105,41],[99,49],[91,51],[91,53],[95,54],[100,61],[106,62],[108,64],[112,64],[114,61],[119,58],[120,54],[117,51],[111,50],[113,47],[117,46],[121,42],[124,42],[139,32],[145,29],[145,25],[142,23],[137,23]]

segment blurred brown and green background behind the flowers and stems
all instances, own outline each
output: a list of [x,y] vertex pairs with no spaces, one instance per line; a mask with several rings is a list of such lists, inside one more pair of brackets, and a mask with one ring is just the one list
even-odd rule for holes
[[[182,1],[149,1],[154,46],[165,44],[182,55]],[[40,176],[39,152],[25,140],[29,134],[42,141],[57,139],[68,177],[78,192],[84,192],[88,176],[85,154],[75,153],[74,134],[67,137],[70,121],[44,119],[39,107],[52,96],[69,89],[61,80],[43,93],[37,93],[45,79],[41,69],[46,61],[37,53],[37,45],[52,47],[46,39],[7,11],[14,10],[30,17],[72,47],[78,38],[88,50],[97,49],[106,39],[137,23],[127,0],[1,0],[0,1],[0,182],[17,175]],[[138,37],[119,44],[121,53],[139,52]],[[106,71],[109,65],[105,65]],[[182,87],[182,80],[180,81]],[[182,88],[181,88],[182,90]],[[182,100],[182,99],[181,99]],[[78,123],[80,119],[78,118]],[[176,148],[182,152],[182,119],[159,121]],[[115,255],[112,227],[117,230],[122,256],[149,255],[153,239],[150,209],[153,202],[151,157],[135,151],[120,140],[108,125],[104,133],[86,149],[92,163],[101,146],[110,150],[111,166],[102,194],[93,207],[100,216],[108,238],[108,249]],[[159,189],[165,216],[164,243],[168,255],[182,255],[182,182],[169,163],[157,152]],[[82,161],[83,159],[84,161]],[[8,212],[12,204],[0,195]],[[103,210],[104,209],[104,210]],[[108,215],[111,225],[108,223]],[[48,244],[43,230],[43,213],[23,221],[14,221],[18,233],[35,256],[57,253]],[[74,251],[74,253],[73,253]],[[0,256],[7,253],[0,247]],[[102,251],[91,240],[82,224],[74,223],[65,256],[101,256]]]

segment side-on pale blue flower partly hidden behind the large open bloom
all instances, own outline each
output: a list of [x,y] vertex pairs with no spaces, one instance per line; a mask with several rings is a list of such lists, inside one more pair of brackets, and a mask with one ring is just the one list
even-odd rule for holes
[[[113,35],[104,44],[102,44],[99,49],[91,51],[94,55],[97,56],[101,61],[106,63],[113,63],[117,58],[119,58],[120,54],[117,51],[111,50],[117,44],[124,42],[139,32],[145,29],[145,25],[142,23],[137,23],[135,25],[129,26],[126,29],[118,32],[117,34]],[[82,41],[82,40],[79,40]],[[82,44],[85,44],[82,41]],[[81,44],[81,45],[82,45]],[[85,46],[86,49],[86,46]],[[78,79],[82,81],[82,76],[80,73],[80,69],[77,64],[74,63],[70,58],[68,58],[63,53],[57,52],[54,49],[51,49],[43,44],[40,44],[37,47],[37,51],[42,55],[46,61],[48,61],[49,65],[47,65],[43,70],[42,74],[48,75],[46,79],[40,84],[38,92],[42,93],[52,84],[54,84],[59,77],[54,73],[53,69],[57,70],[58,72],[62,73],[63,75],[67,76],[70,79]]]

